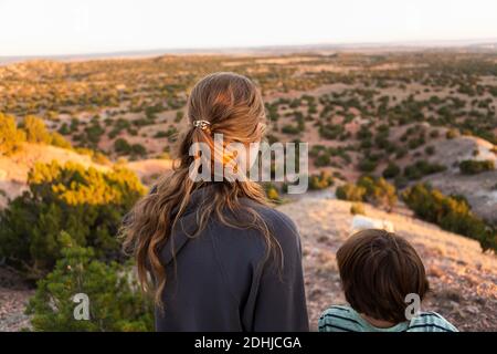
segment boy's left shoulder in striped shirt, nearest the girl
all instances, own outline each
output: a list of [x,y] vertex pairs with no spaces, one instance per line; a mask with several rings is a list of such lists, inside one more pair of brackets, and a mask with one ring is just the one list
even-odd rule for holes
[[362,324],[352,308],[332,305],[318,320],[319,332],[360,332]]

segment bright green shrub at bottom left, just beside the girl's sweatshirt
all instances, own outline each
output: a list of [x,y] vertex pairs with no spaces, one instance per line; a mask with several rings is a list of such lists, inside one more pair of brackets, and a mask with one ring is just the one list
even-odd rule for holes
[[[34,331],[152,331],[154,312],[141,294],[130,264],[95,260],[92,248],[83,248],[62,231],[62,257],[54,270],[38,282],[27,313]],[[89,320],[75,320],[74,295],[88,296]]]

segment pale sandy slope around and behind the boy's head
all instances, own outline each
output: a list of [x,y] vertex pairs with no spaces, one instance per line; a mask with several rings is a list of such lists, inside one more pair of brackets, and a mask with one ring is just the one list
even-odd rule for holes
[[[292,217],[302,235],[311,329],[320,312],[343,303],[335,253],[350,232],[351,204],[305,198],[279,207]],[[304,211],[305,210],[305,211]],[[497,259],[482,253],[477,241],[441,230],[434,225],[400,214],[387,214],[369,205],[368,217],[389,220],[423,259],[432,287],[423,310],[440,312],[461,331],[496,331]]]

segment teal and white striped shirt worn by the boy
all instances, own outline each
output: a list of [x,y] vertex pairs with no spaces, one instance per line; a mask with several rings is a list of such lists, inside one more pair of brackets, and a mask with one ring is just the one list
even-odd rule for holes
[[421,312],[411,321],[388,329],[371,325],[349,306],[331,306],[318,321],[319,332],[458,332],[436,312]]

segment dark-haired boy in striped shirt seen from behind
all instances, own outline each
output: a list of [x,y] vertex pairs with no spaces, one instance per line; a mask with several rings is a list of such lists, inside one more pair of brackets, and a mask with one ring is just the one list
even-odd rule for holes
[[415,309],[429,282],[423,262],[403,238],[359,231],[340,247],[337,263],[350,306],[326,310],[319,332],[457,332],[440,314]]

